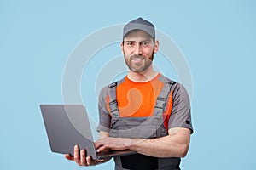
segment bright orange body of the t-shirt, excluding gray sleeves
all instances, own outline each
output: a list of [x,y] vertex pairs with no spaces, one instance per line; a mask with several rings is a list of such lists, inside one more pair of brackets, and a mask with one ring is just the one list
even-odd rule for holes
[[[159,96],[164,82],[159,80],[158,74],[148,82],[132,82],[128,77],[117,87],[116,99],[118,101],[120,117],[147,117],[153,116],[154,105]],[[109,96],[107,96],[107,104]],[[107,105],[110,113],[109,105]],[[172,111],[172,92],[167,101],[166,111],[163,113],[165,127],[167,129],[168,120]]]

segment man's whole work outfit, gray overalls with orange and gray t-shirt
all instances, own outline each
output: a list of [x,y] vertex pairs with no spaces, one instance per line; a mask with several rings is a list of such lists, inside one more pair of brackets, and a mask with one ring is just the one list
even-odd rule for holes
[[[158,74],[148,82],[128,77],[102,89],[97,131],[116,138],[154,139],[172,127],[191,130],[189,96],[183,86]],[[157,158],[141,154],[114,158],[115,169],[180,169],[180,158]]]

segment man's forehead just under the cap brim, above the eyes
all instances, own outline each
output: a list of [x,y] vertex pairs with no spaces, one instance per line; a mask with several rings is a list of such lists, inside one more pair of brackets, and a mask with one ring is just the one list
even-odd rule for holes
[[125,38],[124,38],[125,41],[136,41],[136,40],[153,40],[152,37],[150,37],[148,35],[147,32],[145,31],[142,31],[142,30],[134,30],[134,31],[131,31],[129,32]]

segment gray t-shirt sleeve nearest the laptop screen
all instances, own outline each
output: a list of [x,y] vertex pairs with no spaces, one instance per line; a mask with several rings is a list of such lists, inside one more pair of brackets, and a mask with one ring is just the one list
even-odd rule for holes
[[106,99],[108,96],[108,87],[102,88],[102,91],[98,99],[98,111],[99,111],[99,125],[97,127],[97,132],[109,132],[111,116],[108,113]]

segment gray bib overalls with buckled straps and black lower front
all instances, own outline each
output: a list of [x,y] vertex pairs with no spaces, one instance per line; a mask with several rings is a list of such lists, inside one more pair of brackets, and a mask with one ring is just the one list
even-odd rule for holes
[[[119,82],[110,84],[109,107],[112,114],[110,137],[115,138],[143,138],[154,139],[166,136],[168,133],[164,126],[163,113],[166,110],[166,102],[171,94],[172,85],[175,82],[161,76],[160,80],[165,83],[154,106],[154,116],[148,117],[120,117],[118,101],[116,100],[116,88]],[[168,157],[157,158],[141,154],[131,156],[119,156],[114,158],[115,170],[179,170],[180,158]],[[143,162],[143,163],[142,163]]]

